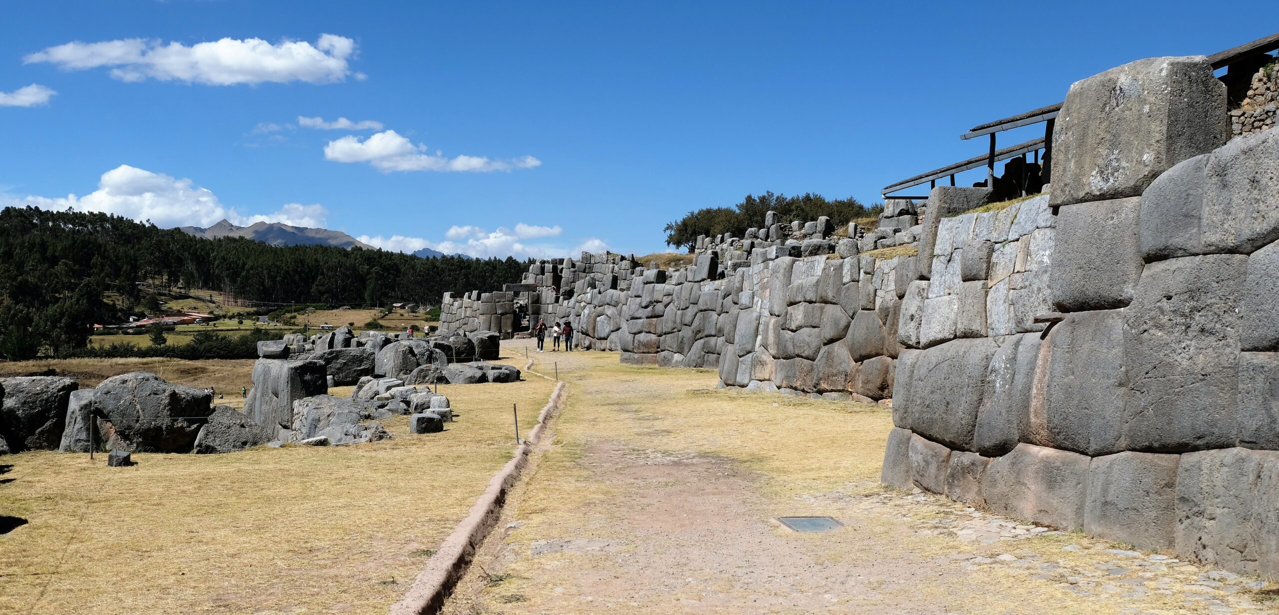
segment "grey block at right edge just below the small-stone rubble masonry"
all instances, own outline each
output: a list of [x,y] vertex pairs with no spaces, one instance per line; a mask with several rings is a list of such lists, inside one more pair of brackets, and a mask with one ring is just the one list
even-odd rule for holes
[[1230,141],[1209,157],[1206,252],[1253,252],[1279,239],[1279,132]]

